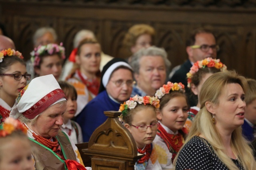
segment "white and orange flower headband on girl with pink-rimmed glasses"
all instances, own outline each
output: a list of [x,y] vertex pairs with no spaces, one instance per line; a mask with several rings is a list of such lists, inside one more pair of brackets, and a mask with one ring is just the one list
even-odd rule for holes
[[124,104],[120,105],[119,111],[122,111],[122,116],[126,116],[128,109],[134,109],[137,104],[144,104],[146,106],[146,104],[150,104],[156,108],[159,108],[160,100],[157,97],[150,97],[150,96],[137,96],[135,95],[133,98],[130,98],[129,100],[127,100],[126,102],[124,102]]

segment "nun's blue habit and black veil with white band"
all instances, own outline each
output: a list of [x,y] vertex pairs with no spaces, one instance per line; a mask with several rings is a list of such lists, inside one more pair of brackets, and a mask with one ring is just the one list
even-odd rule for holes
[[115,58],[108,62],[102,70],[99,94],[84,107],[76,118],[76,122],[82,128],[84,142],[88,142],[93,131],[108,118],[104,115],[104,111],[118,111],[119,109],[120,102],[114,100],[106,91],[110,75],[119,66],[131,69],[123,59]]

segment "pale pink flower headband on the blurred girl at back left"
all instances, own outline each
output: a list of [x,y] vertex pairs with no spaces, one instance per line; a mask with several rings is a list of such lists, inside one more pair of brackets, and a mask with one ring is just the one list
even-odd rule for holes
[[34,66],[39,66],[41,56],[42,55],[54,55],[58,54],[64,60],[65,56],[65,48],[62,47],[62,43],[58,44],[47,44],[47,45],[39,45],[34,48],[34,51],[30,53],[31,61],[34,63]]

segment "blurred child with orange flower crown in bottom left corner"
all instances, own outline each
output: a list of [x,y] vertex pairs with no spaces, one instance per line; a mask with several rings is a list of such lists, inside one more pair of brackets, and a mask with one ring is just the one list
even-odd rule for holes
[[0,125],[0,170],[34,170],[27,130],[20,121],[5,119]]

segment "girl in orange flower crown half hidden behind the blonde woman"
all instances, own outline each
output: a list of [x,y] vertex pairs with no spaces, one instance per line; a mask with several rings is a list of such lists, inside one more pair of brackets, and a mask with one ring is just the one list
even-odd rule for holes
[[208,57],[204,60],[194,63],[190,68],[190,71],[187,73],[188,88],[190,88],[191,92],[193,92],[193,95],[196,95],[198,98],[197,105],[190,107],[190,110],[188,111],[188,119],[184,125],[188,132],[190,131],[194,117],[201,107],[199,102],[199,94],[202,85],[204,84],[205,80],[212,74],[225,70],[227,70],[227,67],[225,64],[220,62],[220,59],[212,59]]

